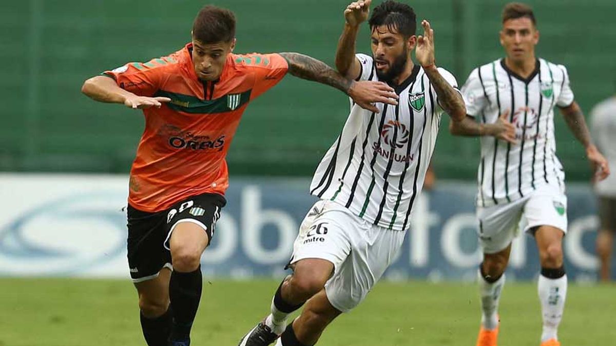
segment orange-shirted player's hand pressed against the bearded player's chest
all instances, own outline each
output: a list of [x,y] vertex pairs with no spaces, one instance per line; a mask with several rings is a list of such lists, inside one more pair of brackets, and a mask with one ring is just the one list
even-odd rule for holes
[[348,94],[360,107],[375,113],[379,113],[379,109],[374,105],[376,102],[398,104],[398,95],[394,92],[394,88],[384,82],[354,81]]

